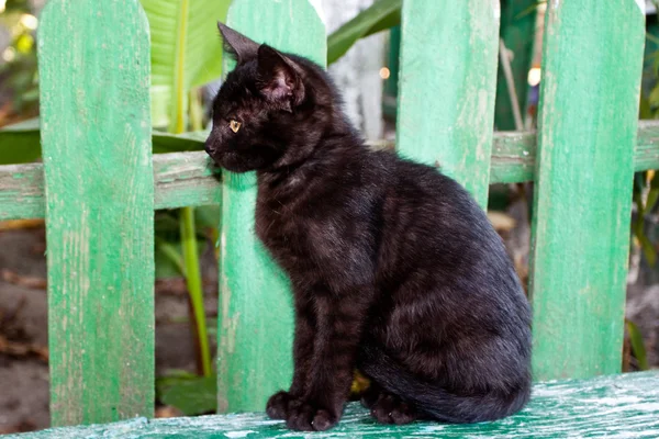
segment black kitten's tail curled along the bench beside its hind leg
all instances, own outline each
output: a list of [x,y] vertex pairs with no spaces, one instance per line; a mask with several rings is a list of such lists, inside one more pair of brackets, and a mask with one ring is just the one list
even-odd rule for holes
[[416,406],[421,417],[453,424],[495,420],[512,415],[528,402],[529,380],[506,394],[456,395],[438,385],[422,382],[381,349],[364,347],[359,369],[386,391]]

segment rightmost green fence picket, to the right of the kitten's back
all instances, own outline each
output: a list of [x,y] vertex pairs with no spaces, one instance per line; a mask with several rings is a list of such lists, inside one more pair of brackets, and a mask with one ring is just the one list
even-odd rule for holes
[[621,369],[645,37],[632,0],[550,1],[546,19],[529,288],[538,380]]

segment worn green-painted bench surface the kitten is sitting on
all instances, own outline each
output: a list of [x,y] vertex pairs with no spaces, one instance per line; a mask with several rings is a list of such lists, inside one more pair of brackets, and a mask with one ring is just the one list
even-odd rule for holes
[[131,420],[64,427],[16,438],[659,438],[659,371],[536,384],[530,404],[495,423],[382,426],[358,403],[340,424],[295,432],[265,414]]

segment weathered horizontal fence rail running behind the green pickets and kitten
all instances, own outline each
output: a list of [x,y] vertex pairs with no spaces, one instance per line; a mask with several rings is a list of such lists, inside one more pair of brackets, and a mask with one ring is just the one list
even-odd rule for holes
[[[659,169],[659,121],[640,121],[638,126],[634,169]],[[533,181],[536,142],[534,132],[494,133],[490,183]],[[375,146],[393,148],[393,143]],[[221,179],[203,151],[154,155],[155,209],[220,204]],[[43,165],[0,166],[0,221],[44,216]]]

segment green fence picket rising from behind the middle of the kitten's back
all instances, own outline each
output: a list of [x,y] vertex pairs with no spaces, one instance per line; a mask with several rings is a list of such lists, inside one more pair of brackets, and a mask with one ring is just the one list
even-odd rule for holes
[[398,149],[488,202],[499,0],[403,2]]

